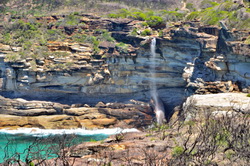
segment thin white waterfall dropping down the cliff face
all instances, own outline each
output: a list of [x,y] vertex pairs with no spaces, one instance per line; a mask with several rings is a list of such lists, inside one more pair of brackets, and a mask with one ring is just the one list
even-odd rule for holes
[[154,105],[154,112],[156,115],[156,120],[158,124],[162,124],[165,121],[165,110],[164,104],[158,96],[157,85],[156,85],[156,39],[153,38],[150,44],[151,50],[151,62],[152,69],[150,70],[152,81],[150,82],[150,92],[151,92],[151,102]]

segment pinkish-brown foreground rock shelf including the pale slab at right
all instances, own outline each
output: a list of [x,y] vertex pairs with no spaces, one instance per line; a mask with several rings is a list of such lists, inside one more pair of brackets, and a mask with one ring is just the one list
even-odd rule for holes
[[[181,112],[176,110],[171,121],[166,125],[151,125],[140,132],[121,132],[103,141],[86,142],[63,149],[67,154],[65,159],[69,164],[74,163],[76,166],[108,163],[115,166],[147,165],[148,163],[175,165],[178,163],[174,159],[175,155],[182,153],[175,150],[179,148],[177,145],[182,141],[187,141],[186,143],[194,141],[195,137],[202,134],[199,132],[205,132],[203,133],[205,136],[208,131],[202,131],[202,128],[199,128],[204,127],[205,121],[221,120],[219,123],[225,123],[224,120],[227,119],[230,120],[229,123],[234,123],[234,127],[238,123],[248,125],[249,118],[246,118],[244,122],[239,121],[238,118],[244,117],[242,115],[249,115],[249,105],[250,98],[244,93],[194,95],[187,99]],[[185,117],[184,119],[178,116],[181,114]],[[190,127],[192,130],[197,130],[197,133],[190,133]],[[248,127],[245,128],[247,131]],[[186,137],[187,135],[192,135],[191,140]],[[229,159],[225,159],[225,155],[226,153],[217,154],[213,161],[219,165],[232,164]],[[54,159],[44,161],[44,163],[63,164],[62,161]],[[244,162],[240,160],[239,164],[244,165]]]

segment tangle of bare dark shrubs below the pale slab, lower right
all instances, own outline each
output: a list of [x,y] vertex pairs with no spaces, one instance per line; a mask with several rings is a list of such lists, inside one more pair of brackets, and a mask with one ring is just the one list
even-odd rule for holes
[[217,165],[221,160],[229,164],[249,163],[249,114],[242,110],[222,111],[220,116],[207,110],[203,112],[199,114],[203,114],[204,119],[188,119],[177,127],[182,141],[170,165]]

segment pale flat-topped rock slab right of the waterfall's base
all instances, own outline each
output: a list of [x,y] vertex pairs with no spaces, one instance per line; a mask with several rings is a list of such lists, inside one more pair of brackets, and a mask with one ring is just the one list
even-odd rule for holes
[[183,105],[185,120],[227,118],[250,114],[250,97],[245,93],[193,95]]

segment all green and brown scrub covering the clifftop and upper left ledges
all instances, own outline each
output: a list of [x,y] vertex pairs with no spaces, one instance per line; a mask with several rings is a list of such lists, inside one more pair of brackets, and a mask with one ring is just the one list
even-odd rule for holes
[[138,20],[129,30],[130,35],[163,37],[166,27],[185,21],[217,26],[223,22],[229,29],[249,30],[249,4],[232,0],[3,0],[0,42],[11,49],[21,48],[17,54],[7,56],[10,61],[46,58],[51,54],[48,50],[51,42],[87,44],[94,56],[100,53],[101,42],[109,42],[120,53],[126,53],[129,45],[116,42],[102,25],[90,30],[84,14],[93,12],[108,19]]

